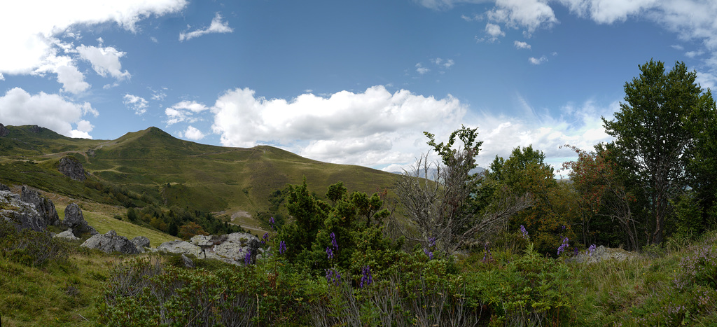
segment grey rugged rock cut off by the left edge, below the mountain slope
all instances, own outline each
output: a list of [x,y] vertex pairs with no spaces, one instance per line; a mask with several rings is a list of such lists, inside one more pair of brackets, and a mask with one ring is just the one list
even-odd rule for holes
[[29,228],[35,232],[47,229],[47,221],[37,213],[34,204],[22,201],[19,194],[0,191],[0,219],[13,222],[17,228]]

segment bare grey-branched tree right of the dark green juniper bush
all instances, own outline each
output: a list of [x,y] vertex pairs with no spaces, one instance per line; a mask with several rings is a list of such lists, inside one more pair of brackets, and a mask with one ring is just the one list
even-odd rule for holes
[[402,233],[408,240],[424,245],[435,242],[437,250],[451,254],[474,242],[489,240],[498,227],[514,214],[531,206],[528,194],[494,196],[487,207],[470,204],[480,176],[470,174],[477,151],[452,153],[449,165],[430,163],[428,155],[397,181],[399,206],[406,218]]

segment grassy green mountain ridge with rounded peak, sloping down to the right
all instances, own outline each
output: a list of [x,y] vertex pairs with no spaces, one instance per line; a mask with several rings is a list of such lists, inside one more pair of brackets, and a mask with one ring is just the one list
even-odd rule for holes
[[[184,141],[155,127],[116,140],[67,138],[28,125],[4,128],[8,133],[0,137],[0,182],[125,207],[158,202],[166,208],[254,216],[270,209],[272,193],[303,178],[322,195],[338,181],[350,191],[371,194],[391,188],[396,178],[272,146],[229,148]],[[82,163],[87,181],[57,171],[66,156]]]

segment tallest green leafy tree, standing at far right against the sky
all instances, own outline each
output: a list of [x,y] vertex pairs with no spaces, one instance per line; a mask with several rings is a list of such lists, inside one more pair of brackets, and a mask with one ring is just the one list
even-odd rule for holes
[[625,103],[613,120],[602,118],[614,136],[619,156],[647,196],[652,216],[651,242],[665,239],[665,218],[674,199],[688,184],[688,164],[695,155],[695,128],[690,117],[714,103],[709,92],[676,62],[669,72],[663,62],[640,65],[640,76],[625,83]]

